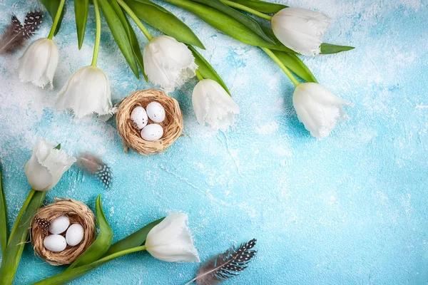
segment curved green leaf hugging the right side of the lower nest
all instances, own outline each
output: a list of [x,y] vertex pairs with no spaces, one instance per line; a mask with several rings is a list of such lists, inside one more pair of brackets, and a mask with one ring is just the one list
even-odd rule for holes
[[113,231],[111,230],[110,225],[107,222],[106,216],[103,212],[103,207],[101,206],[101,195],[98,195],[95,202],[96,209],[96,219],[98,222],[99,233],[95,242],[91,244],[91,247],[88,247],[83,254],[81,254],[76,261],[68,266],[68,270],[73,269],[74,267],[83,266],[90,264],[93,261],[98,260],[102,257],[111,246],[113,241]]

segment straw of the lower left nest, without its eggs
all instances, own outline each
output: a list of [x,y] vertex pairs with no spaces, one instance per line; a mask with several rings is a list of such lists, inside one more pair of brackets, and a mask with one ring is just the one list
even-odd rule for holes
[[[93,243],[96,236],[95,217],[91,209],[73,199],[55,199],[56,202],[39,209],[31,221],[31,240],[34,252],[52,265],[71,264]],[[57,217],[66,215],[71,224],[81,224],[84,229],[83,239],[80,244],[70,247],[67,245],[62,252],[51,252],[44,247],[44,239],[49,232],[44,230],[36,219],[46,219],[52,222]],[[65,234],[65,233],[64,233]]]

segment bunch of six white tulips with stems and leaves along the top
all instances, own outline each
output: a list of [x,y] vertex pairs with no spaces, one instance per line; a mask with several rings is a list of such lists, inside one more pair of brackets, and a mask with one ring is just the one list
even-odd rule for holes
[[[24,56],[21,57],[19,63],[21,81],[29,81],[41,87],[53,86],[52,81],[59,56],[58,47],[52,41],[52,37],[54,31],[58,29],[58,19],[61,19],[64,1],[58,1],[56,14],[51,14],[55,17],[48,38],[41,38],[32,43]],[[208,24],[238,39],[238,41],[262,48],[280,66],[296,87],[300,86],[300,81],[297,81],[292,73],[307,83],[317,83],[315,76],[295,55],[296,53],[303,56],[315,56],[319,53],[337,53],[352,49],[349,46],[322,43],[330,19],[325,14],[316,11],[290,8],[264,1],[260,1],[260,4],[228,0],[164,1],[197,14]],[[110,118],[116,112],[111,101],[108,76],[97,67],[101,40],[101,8],[113,37],[137,77],[139,76],[139,67],[146,79],[160,86],[166,93],[170,93],[197,76],[200,82],[193,89],[192,101],[198,123],[200,125],[206,123],[215,130],[225,130],[233,125],[235,115],[240,113],[240,108],[230,97],[230,92],[220,76],[195,50],[194,46],[204,47],[188,26],[169,11],[151,1],[95,0],[93,5],[96,16],[96,39],[92,63],[91,66],[85,66],[73,73],[65,86],[58,92],[56,98],[58,110],[72,110],[76,118],[96,114],[103,119]],[[151,11],[150,15],[146,9]],[[86,28],[86,21],[84,24],[80,21],[88,16],[87,9],[86,14],[80,14],[83,13],[80,10],[76,9],[79,47],[83,42]],[[271,31],[261,28],[255,19],[240,11],[246,11],[271,21]],[[142,50],[138,48],[135,32],[126,21],[126,14],[148,39],[148,43]],[[151,36],[141,19],[168,36]],[[121,25],[117,23],[121,23]],[[168,24],[165,25],[165,23]],[[240,32],[242,25],[248,29],[245,33]],[[297,118],[310,131],[311,135],[316,138],[325,138],[331,133],[337,121],[343,120],[347,116],[344,115],[345,112],[342,108],[337,113],[336,105],[329,105],[330,103],[318,104],[317,108],[314,108],[314,101],[302,100],[302,98],[306,98],[300,95],[302,89],[309,90],[303,86],[296,88],[293,96]],[[310,88],[310,91],[306,91],[305,94],[310,95],[310,98],[314,98],[315,101],[321,102],[321,97],[325,95],[322,90],[324,88],[321,86]],[[340,103],[340,106],[342,105],[350,104]]]

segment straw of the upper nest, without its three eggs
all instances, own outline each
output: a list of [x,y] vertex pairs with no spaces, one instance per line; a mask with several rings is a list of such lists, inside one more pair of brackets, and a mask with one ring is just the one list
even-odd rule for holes
[[[161,139],[150,142],[141,138],[141,130],[133,126],[131,113],[134,108],[141,106],[146,109],[148,103],[161,103],[165,108],[165,120],[158,123],[163,128]],[[148,124],[154,123],[148,119]],[[119,103],[116,113],[116,125],[118,133],[123,140],[125,152],[131,147],[141,155],[153,155],[165,151],[173,142],[180,137],[183,130],[183,114],[177,100],[163,93],[161,90],[149,89],[138,90]]]

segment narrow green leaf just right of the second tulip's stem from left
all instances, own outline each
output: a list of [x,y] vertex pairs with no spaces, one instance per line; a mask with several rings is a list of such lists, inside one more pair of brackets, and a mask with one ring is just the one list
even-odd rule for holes
[[128,33],[126,32],[126,28],[123,27],[121,19],[119,19],[118,14],[116,14],[108,0],[98,0],[98,2],[101,6],[101,11],[103,11],[104,17],[106,18],[106,22],[110,28],[111,34],[118,44],[118,47],[121,49],[129,67],[135,74],[136,78],[140,78],[138,74],[138,66],[128,38]]

